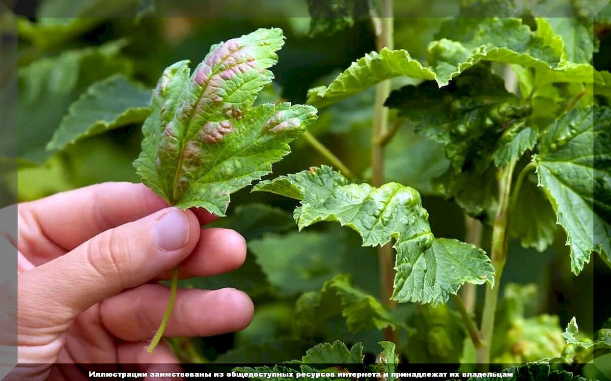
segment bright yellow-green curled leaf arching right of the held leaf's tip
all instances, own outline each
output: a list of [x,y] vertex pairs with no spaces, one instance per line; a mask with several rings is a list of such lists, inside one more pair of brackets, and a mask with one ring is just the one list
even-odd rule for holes
[[329,86],[320,86],[310,89],[308,103],[316,107],[323,107],[338,102],[343,98],[364,91],[370,86],[397,76],[409,76],[434,80],[435,73],[423,67],[419,61],[413,59],[406,50],[372,51],[353,62],[349,68],[341,73]]

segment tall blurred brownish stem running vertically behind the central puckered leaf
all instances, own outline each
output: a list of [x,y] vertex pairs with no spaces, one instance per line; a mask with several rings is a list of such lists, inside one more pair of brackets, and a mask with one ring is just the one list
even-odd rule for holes
[[[382,48],[393,48],[393,12],[392,0],[381,0],[380,18],[374,21],[378,25],[376,28],[376,45],[378,50]],[[376,86],[376,100],[373,113],[373,136],[371,137],[371,168],[373,168],[372,183],[374,187],[384,184],[384,145],[380,144],[381,139],[386,136],[388,131],[388,108],[384,107],[384,102],[390,94],[390,81],[382,81]],[[384,304],[393,309],[397,303],[391,299],[395,269],[394,255],[390,244],[378,249],[378,263],[380,276],[380,291]],[[397,332],[392,328],[386,328],[384,338],[397,344]]]

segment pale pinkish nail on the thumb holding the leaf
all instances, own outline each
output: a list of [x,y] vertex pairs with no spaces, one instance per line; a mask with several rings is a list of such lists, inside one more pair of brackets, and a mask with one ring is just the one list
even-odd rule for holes
[[153,243],[166,251],[174,251],[185,247],[189,242],[189,219],[185,212],[172,209],[151,229]]

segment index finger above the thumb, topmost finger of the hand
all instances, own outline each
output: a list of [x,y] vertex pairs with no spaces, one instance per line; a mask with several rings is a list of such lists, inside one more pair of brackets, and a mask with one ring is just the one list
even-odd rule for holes
[[[101,232],[167,206],[163,198],[140,183],[108,182],[57,193],[18,205],[18,245],[24,252],[42,256],[44,252],[57,252],[40,247],[50,240],[70,251]],[[196,215],[202,224],[214,219],[205,210],[198,210]]]

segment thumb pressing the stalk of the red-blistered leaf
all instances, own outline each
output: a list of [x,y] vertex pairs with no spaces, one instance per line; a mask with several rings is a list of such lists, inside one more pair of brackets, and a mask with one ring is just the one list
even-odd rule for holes
[[[98,234],[18,276],[20,320],[37,322],[40,317],[46,327],[65,324],[95,303],[180,264],[199,234],[197,217],[177,208]],[[51,316],[59,321],[49,321]]]

